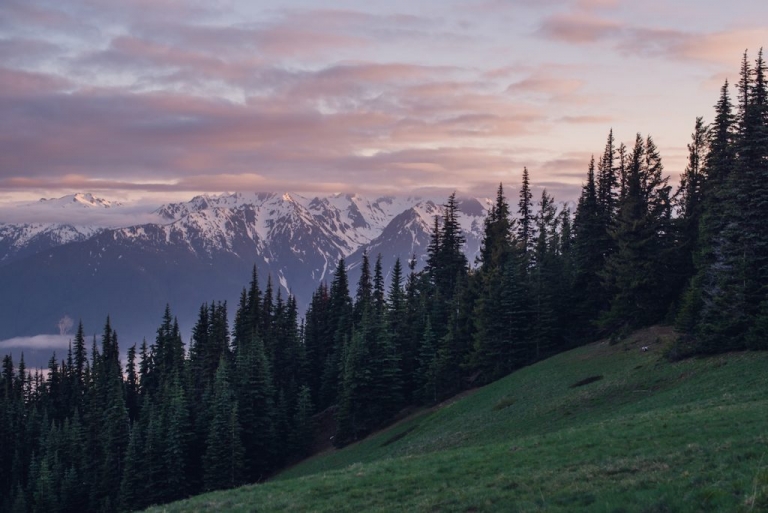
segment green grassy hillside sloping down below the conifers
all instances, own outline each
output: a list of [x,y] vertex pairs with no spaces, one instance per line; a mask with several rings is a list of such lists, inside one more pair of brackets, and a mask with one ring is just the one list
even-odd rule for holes
[[767,510],[768,354],[669,363],[670,338],[564,353],[268,483],[153,511]]

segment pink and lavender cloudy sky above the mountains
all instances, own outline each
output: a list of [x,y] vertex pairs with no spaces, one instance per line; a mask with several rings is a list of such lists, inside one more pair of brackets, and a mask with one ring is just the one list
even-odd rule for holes
[[578,193],[608,130],[685,166],[757,0],[2,0],[0,203],[91,191]]

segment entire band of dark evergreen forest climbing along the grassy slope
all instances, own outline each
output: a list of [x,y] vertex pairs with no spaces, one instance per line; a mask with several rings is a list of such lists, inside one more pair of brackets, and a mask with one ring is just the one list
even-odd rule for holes
[[451,195],[424,270],[385,277],[364,255],[350,293],[340,260],[300,318],[254,268],[229,324],[200,307],[188,347],[166,308],[155,340],[120,360],[107,319],[86,347],[31,372],[0,373],[0,509],[141,509],[257,482],[308,456],[332,417],[343,446],[403,408],[462,390],[599,337],[658,322],[674,358],[768,348],[768,100],[762,52],[726,82],[715,119],[695,123],[673,191],[651,136],[610,132],[575,212],[523,171],[516,209],[502,185],[476,262],[462,251]]

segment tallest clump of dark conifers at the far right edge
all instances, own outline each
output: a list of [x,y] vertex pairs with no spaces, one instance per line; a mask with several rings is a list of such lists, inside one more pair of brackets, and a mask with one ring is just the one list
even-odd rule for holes
[[699,222],[696,274],[678,325],[694,350],[760,347],[768,289],[768,100],[762,51],[747,54],[739,75],[738,111],[723,85],[710,130]]

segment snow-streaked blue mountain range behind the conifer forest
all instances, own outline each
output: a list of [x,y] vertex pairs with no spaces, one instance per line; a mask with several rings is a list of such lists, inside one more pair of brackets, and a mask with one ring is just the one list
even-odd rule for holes
[[[186,341],[202,303],[226,300],[234,314],[254,265],[262,287],[271,278],[275,293],[293,294],[303,314],[318,285],[332,280],[341,257],[352,289],[366,251],[372,260],[381,254],[387,274],[397,258],[405,264],[415,256],[421,269],[444,201],[202,195],[146,212],[143,219],[152,222],[119,227],[99,221],[106,210],[126,207],[92,194],[21,205],[15,214],[49,221],[0,223],[0,341],[57,332],[64,317],[82,319],[86,332],[96,334],[110,315],[127,347],[154,339],[166,304]],[[461,198],[459,206],[472,262],[489,200]]]

